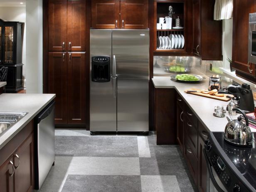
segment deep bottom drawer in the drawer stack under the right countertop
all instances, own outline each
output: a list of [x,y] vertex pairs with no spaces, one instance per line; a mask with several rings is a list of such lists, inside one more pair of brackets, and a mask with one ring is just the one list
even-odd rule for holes
[[197,157],[196,155],[194,155],[192,148],[187,142],[185,145],[185,158],[187,160],[187,164],[193,180],[195,183],[197,183]]

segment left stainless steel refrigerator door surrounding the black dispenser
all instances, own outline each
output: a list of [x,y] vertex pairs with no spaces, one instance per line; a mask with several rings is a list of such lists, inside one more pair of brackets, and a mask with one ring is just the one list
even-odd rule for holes
[[[94,56],[109,56],[112,60],[111,35],[112,30],[91,30],[91,58]],[[110,81],[108,82],[93,82],[91,74],[91,58],[90,130],[116,131],[116,79],[113,79],[111,74]]]

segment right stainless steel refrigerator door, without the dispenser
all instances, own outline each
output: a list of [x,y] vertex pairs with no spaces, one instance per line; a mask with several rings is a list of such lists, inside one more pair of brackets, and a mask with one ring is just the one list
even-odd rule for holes
[[149,30],[113,30],[117,130],[148,131]]

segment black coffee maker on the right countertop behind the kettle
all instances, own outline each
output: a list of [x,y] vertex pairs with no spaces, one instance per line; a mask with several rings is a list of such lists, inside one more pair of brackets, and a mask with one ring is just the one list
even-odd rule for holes
[[249,84],[233,84],[227,88],[223,87],[218,93],[234,95],[234,100],[241,110],[245,113],[254,112],[254,96]]

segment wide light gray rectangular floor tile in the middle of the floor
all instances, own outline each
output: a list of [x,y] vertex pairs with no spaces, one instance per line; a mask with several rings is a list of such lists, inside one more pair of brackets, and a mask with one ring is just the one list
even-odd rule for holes
[[73,157],[69,175],[140,175],[139,158]]

